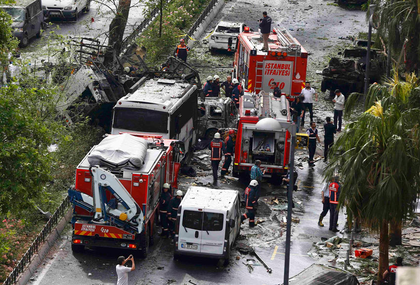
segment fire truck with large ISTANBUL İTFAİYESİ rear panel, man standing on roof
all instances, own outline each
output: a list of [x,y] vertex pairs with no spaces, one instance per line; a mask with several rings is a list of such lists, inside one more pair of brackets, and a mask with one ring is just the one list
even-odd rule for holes
[[307,51],[286,29],[274,28],[268,39],[269,52],[261,51],[261,34],[245,27],[239,34],[235,53],[233,78],[250,92],[270,92],[277,82],[282,93],[293,99],[305,87]]

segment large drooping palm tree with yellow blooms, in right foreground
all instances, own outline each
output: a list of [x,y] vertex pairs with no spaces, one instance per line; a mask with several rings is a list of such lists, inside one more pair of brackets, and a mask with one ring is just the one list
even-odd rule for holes
[[[420,192],[419,80],[411,74],[402,82],[394,74],[385,85],[371,86],[365,112],[337,138],[324,173],[331,178],[339,169],[340,207],[379,231],[378,282],[389,265],[388,223],[414,213]],[[350,95],[346,116],[358,96]]]

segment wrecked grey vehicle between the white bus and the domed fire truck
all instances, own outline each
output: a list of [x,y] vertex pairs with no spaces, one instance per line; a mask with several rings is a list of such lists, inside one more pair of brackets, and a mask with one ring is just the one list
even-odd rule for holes
[[199,137],[213,139],[220,129],[236,128],[238,109],[232,99],[208,99],[198,106]]

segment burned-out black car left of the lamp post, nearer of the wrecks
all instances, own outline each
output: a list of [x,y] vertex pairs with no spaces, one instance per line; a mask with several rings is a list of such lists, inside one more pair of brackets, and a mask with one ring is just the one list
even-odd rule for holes
[[322,71],[321,91],[330,90],[334,95],[340,89],[344,96],[352,92],[363,92],[365,72],[357,60],[333,57]]

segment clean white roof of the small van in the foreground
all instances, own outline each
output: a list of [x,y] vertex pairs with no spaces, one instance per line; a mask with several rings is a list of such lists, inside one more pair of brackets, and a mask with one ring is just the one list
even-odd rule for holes
[[181,205],[185,207],[226,211],[232,207],[237,196],[237,190],[191,186],[184,198],[182,198]]

